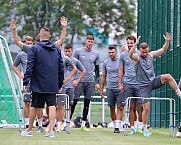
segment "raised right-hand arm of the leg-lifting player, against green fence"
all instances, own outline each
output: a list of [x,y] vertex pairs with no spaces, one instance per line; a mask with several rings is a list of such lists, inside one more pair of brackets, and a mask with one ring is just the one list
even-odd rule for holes
[[170,43],[170,34],[168,32],[166,32],[166,35],[163,35],[163,37],[165,38],[165,43],[162,46],[162,48],[158,49],[157,51],[150,52],[150,54],[152,55],[153,58],[162,55],[168,49],[168,46]]

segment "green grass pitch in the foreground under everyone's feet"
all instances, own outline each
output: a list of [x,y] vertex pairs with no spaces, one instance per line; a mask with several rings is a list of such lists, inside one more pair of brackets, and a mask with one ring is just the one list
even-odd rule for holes
[[32,137],[22,137],[18,129],[0,128],[0,145],[179,145],[181,138],[169,136],[169,129],[150,129],[151,137],[143,134],[124,136],[123,133],[114,134],[112,128],[91,128],[90,132],[82,132],[79,128],[72,128],[70,134],[55,133],[54,138],[43,137],[43,133],[36,133]]

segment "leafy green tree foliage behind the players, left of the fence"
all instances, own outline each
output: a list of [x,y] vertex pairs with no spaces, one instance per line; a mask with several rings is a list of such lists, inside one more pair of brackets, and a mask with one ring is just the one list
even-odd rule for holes
[[110,33],[120,40],[136,27],[134,0],[0,0],[0,5],[3,7],[0,10],[1,30],[4,32],[14,18],[22,26],[18,31],[20,36],[35,37],[40,28],[46,26],[51,29],[52,38],[58,39],[61,16],[68,19],[69,43],[73,43],[76,34],[80,38],[91,29],[97,31],[103,43]]

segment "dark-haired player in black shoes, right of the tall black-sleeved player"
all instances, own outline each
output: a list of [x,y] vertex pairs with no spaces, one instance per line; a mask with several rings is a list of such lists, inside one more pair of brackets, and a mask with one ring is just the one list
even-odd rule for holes
[[102,98],[104,98],[103,89],[104,84],[107,80],[106,93],[108,99],[108,106],[110,107],[110,116],[114,123],[114,133],[120,133],[119,128],[121,128],[121,131],[123,131],[121,121],[123,119],[125,99],[123,93],[119,90],[118,86],[119,59],[117,57],[116,46],[110,46],[108,48],[108,52],[110,58],[104,61],[102,67],[100,95]]

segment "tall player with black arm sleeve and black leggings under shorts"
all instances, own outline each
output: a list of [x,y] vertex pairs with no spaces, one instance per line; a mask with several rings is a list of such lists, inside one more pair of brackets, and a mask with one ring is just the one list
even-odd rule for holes
[[75,50],[74,57],[77,58],[86,70],[86,75],[81,79],[75,88],[74,103],[71,110],[71,116],[74,113],[75,106],[80,98],[82,92],[84,93],[84,109],[83,109],[83,120],[81,130],[90,131],[85,127],[87,114],[89,112],[89,104],[94,93],[94,70],[96,77],[95,89],[100,88],[99,84],[99,54],[97,51],[92,49],[94,44],[94,37],[88,35],[85,41],[85,47]]

